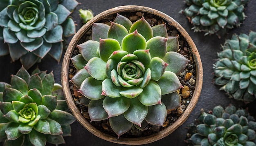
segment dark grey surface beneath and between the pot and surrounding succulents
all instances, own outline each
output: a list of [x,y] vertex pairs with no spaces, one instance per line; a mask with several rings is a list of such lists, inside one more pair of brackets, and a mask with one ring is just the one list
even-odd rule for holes
[[[248,17],[245,19],[241,27],[230,30],[229,34],[225,35],[221,39],[218,39],[218,37],[215,35],[204,36],[204,33],[194,33],[193,30],[191,30],[192,25],[188,22],[186,17],[178,13],[180,10],[186,7],[186,4],[183,0],[77,1],[81,4],[76,7],[74,13],[72,14],[72,17],[77,24],[76,30],[79,30],[80,27],[83,25],[79,18],[79,9],[91,9],[94,12],[94,15],[97,15],[102,11],[121,5],[140,5],[157,9],[174,18],[189,33],[198,48],[204,69],[203,87],[198,104],[196,105],[194,111],[191,113],[187,121],[184,122],[182,126],[177,128],[176,131],[157,142],[146,144],[146,146],[186,146],[186,143],[184,142],[187,132],[186,126],[198,117],[201,108],[204,108],[207,111],[217,105],[227,106],[229,103],[234,103],[238,105],[237,102],[234,102],[234,100],[228,99],[224,91],[219,91],[219,88],[212,84],[213,64],[216,62],[217,52],[221,51],[220,44],[223,44],[225,42],[225,39],[231,38],[231,35],[233,33],[248,34],[250,30],[256,31],[256,0],[249,0],[249,3],[245,7],[245,15],[247,15]],[[35,69],[36,66],[38,66],[41,71],[47,70],[48,73],[50,71],[53,71],[55,82],[61,83],[61,62],[58,64],[58,62],[56,62],[49,55],[47,55],[41,63],[38,63],[34,65],[31,69],[29,69],[29,72],[31,73],[31,71]],[[9,55],[0,57],[0,81],[10,83],[10,75],[16,74],[20,67],[20,62],[16,61],[12,63]],[[255,105],[255,102],[250,105]],[[256,113],[253,108],[250,109],[250,111],[254,111],[252,114]],[[65,137],[66,144],[63,144],[63,146],[119,146],[119,144],[107,142],[94,136],[85,128],[83,128],[83,126],[81,126],[77,121],[72,124],[71,134],[71,137]]]

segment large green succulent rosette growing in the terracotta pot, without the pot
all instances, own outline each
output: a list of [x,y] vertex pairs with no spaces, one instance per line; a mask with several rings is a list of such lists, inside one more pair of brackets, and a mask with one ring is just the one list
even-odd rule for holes
[[189,60],[175,52],[178,46],[165,24],[150,27],[144,17],[132,24],[117,14],[111,26],[94,23],[92,40],[71,58],[79,70],[71,82],[91,100],[91,121],[109,118],[118,137],[133,125],[143,129],[142,122],[162,126],[166,109],[181,104],[177,75]]

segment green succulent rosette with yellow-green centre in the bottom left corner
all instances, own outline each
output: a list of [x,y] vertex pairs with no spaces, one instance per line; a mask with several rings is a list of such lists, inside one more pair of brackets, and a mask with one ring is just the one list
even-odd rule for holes
[[4,146],[44,146],[65,143],[75,118],[53,73],[21,68],[11,84],[0,82],[0,141]]

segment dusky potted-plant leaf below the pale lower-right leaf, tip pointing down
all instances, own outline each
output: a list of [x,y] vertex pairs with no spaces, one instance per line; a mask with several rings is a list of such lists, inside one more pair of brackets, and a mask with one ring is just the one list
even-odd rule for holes
[[145,120],[149,124],[163,126],[166,115],[166,106],[163,103],[148,106],[148,115],[146,116]]

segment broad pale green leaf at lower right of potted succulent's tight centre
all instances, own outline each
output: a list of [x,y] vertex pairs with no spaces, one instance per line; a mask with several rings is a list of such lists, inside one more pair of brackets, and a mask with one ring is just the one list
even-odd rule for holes
[[161,104],[161,89],[157,83],[151,81],[143,88],[138,98],[145,106]]

